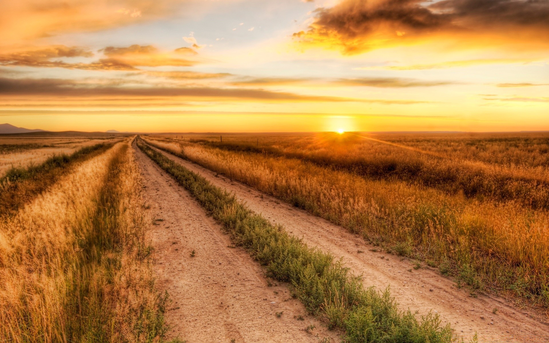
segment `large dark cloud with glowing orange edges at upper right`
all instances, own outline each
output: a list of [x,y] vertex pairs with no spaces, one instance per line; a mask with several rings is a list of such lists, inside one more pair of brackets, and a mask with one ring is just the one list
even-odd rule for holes
[[317,9],[309,29],[294,37],[344,54],[429,41],[536,50],[549,46],[547,18],[547,0],[343,0]]

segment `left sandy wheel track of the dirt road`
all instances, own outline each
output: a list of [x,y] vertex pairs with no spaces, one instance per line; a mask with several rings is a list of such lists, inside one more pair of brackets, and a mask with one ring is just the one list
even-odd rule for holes
[[[158,282],[172,299],[166,316],[169,338],[188,343],[339,341],[337,333],[306,315],[286,285],[268,286],[259,264],[232,246],[186,189],[135,149],[154,218]],[[277,312],[283,313],[277,317]],[[309,325],[316,327],[311,333],[305,331]]]

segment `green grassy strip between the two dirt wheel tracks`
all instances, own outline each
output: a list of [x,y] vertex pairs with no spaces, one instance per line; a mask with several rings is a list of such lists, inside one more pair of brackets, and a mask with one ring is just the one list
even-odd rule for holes
[[211,185],[205,178],[166,158],[138,140],[138,147],[187,188],[199,203],[226,229],[235,244],[247,249],[265,266],[267,274],[289,282],[294,296],[307,311],[323,319],[329,328],[345,331],[344,341],[358,342],[452,342],[450,325],[441,327],[438,315],[417,320],[400,312],[389,290],[364,289],[360,277],[341,261],[273,226],[250,212],[233,195]]

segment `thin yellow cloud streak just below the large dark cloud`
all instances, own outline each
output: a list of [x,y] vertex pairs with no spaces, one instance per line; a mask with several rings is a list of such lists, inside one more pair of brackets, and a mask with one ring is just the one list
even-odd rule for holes
[[508,58],[499,58],[499,59],[473,59],[473,60],[462,60],[462,61],[446,61],[441,63],[429,63],[429,64],[412,64],[412,65],[388,65],[388,66],[371,66],[371,67],[361,67],[354,68],[354,70],[426,70],[426,69],[447,69],[447,68],[464,68],[475,65],[485,65],[485,64],[528,64],[533,62],[533,60],[525,59],[508,59]]

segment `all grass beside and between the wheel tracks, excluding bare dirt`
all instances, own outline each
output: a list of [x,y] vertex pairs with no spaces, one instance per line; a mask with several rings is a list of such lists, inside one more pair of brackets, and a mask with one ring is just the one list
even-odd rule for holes
[[[155,227],[164,220],[145,204],[143,159],[214,218],[226,248],[259,263],[258,279],[286,285],[342,342],[464,341],[432,308],[399,308],[387,285],[365,286],[345,261],[152,147],[322,217],[416,270],[436,268],[472,298],[549,309],[549,134],[20,134],[0,137],[0,341],[184,342],[167,334],[169,305],[185,300],[157,282],[155,254],[166,252],[155,252],[150,230],[164,234]],[[172,199],[181,201],[161,201]],[[168,257],[184,268],[177,250]],[[188,320],[207,327],[218,314]],[[314,327],[307,339],[332,341],[309,335]]]

